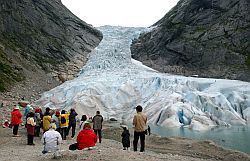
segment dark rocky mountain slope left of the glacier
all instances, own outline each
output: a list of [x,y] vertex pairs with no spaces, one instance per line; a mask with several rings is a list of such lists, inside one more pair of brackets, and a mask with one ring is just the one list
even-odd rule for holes
[[0,91],[39,93],[72,79],[101,39],[60,0],[1,0]]

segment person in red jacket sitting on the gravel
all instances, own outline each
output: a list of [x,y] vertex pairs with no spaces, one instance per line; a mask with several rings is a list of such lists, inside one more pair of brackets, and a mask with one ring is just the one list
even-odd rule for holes
[[76,143],[69,146],[69,150],[82,150],[91,148],[96,145],[97,137],[95,132],[91,129],[90,123],[85,123],[83,130],[77,136]]

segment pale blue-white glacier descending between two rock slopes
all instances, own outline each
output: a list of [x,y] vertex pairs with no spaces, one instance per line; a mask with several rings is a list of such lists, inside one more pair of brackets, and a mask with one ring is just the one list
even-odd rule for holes
[[207,130],[250,123],[250,83],[160,73],[131,58],[130,44],[150,28],[98,27],[103,40],[78,77],[41,95],[34,104],[79,116],[115,118],[131,125],[142,105],[150,124]]

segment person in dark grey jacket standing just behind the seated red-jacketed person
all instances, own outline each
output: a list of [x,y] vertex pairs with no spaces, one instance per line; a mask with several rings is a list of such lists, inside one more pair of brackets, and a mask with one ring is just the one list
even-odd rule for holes
[[96,115],[92,119],[93,121],[93,129],[96,135],[98,135],[99,143],[102,142],[102,122],[103,117],[100,114],[100,111],[96,111]]

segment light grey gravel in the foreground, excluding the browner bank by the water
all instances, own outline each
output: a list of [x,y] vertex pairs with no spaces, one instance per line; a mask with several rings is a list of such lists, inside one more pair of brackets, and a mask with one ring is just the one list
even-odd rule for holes
[[[0,128],[0,160],[1,161],[27,161],[27,160],[55,160],[53,154],[42,154],[43,145],[40,138],[34,139],[34,146],[26,145],[27,138],[25,128],[19,131],[21,137],[11,137],[12,129]],[[122,144],[115,140],[104,139],[97,143],[92,150],[69,151],[68,146],[75,142],[75,139],[64,140],[60,147],[61,156],[57,160],[92,160],[92,161],[200,161],[209,159],[199,159],[187,156],[158,154],[151,151],[144,153],[122,150]]]

